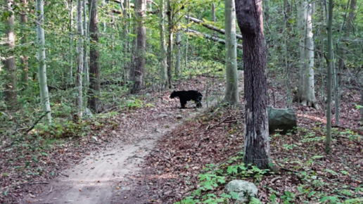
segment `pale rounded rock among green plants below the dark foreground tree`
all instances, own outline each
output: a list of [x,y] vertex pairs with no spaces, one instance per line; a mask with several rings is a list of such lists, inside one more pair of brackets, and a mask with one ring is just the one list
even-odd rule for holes
[[238,194],[237,201],[240,203],[247,203],[251,197],[257,196],[257,186],[250,181],[233,180],[226,186],[227,191]]

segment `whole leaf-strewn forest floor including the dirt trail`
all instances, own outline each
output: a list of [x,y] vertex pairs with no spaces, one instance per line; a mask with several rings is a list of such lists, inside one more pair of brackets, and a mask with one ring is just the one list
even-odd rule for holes
[[[1,148],[0,203],[174,203],[191,196],[203,186],[201,173],[219,169],[215,175],[226,175],[228,166],[241,163],[243,108],[210,108],[222,98],[222,80],[198,76],[178,82],[175,89],[202,91],[209,104],[204,102],[200,109],[180,110],[170,91],[149,92],[142,95],[142,108],[120,110],[105,119],[105,125],[91,125],[87,136],[49,148],[29,148],[36,142],[32,140]],[[276,98],[270,97],[269,103],[276,108],[286,107],[281,100],[285,95],[284,86],[269,87],[269,96]],[[298,131],[270,136],[280,174],[242,171],[224,179],[253,181],[262,203],[363,198],[363,142],[355,107],[359,95],[345,91],[342,98],[331,154],[324,153],[324,112],[294,104]],[[194,198],[220,196],[223,186]]]

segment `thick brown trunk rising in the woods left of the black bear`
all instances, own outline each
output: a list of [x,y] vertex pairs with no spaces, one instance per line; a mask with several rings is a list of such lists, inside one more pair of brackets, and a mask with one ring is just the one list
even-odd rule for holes
[[145,0],[135,2],[135,13],[138,20],[136,25],[136,52],[134,69],[132,70],[132,82],[134,82],[131,93],[134,94],[144,87],[145,73],[145,51],[146,51],[146,28],[144,25],[144,16],[146,11]]

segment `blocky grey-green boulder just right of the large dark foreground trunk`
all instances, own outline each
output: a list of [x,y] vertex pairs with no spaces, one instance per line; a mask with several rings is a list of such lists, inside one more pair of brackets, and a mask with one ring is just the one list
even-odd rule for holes
[[272,134],[279,130],[279,133],[286,134],[288,130],[298,127],[298,120],[295,111],[291,108],[272,108],[267,107],[269,113],[269,133]]

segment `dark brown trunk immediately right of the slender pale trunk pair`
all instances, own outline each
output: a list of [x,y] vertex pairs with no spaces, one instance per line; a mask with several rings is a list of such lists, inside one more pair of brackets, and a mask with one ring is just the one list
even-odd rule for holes
[[88,105],[91,110],[100,111],[100,62],[98,53],[98,1],[89,0],[89,98]]

